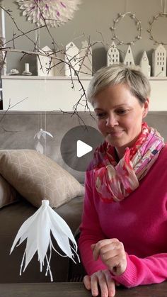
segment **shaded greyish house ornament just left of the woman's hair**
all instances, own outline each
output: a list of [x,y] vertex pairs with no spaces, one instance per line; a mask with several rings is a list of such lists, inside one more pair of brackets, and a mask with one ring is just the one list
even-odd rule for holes
[[90,77],[92,75],[92,48],[86,40],[82,42],[79,60],[79,77]]

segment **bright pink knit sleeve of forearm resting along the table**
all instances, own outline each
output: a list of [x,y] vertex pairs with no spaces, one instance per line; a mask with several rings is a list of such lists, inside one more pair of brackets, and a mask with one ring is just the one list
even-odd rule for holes
[[167,253],[154,254],[146,258],[138,258],[127,254],[127,269],[120,276],[114,276],[119,284],[127,288],[159,284],[167,279]]

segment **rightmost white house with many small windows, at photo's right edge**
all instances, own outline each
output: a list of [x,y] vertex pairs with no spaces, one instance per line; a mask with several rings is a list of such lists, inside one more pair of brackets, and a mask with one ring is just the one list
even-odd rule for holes
[[161,44],[152,54],[152,69],[154,77],[166,77],[166,49]]

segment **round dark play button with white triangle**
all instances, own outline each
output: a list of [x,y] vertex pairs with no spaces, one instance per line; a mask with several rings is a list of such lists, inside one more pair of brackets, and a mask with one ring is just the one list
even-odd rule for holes
[[74,170],[85,172],[93,152],[103,142],[100,132],[88,125],[71,128],[62,139],[60,151],[64,162]]

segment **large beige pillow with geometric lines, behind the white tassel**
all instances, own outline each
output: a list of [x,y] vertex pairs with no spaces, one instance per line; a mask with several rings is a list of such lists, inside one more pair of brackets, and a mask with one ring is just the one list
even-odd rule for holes
[[37,207],[44,198],[58,207],[84,195],[84,187],[74,176],[35,150],[0,150],[0,174]]

